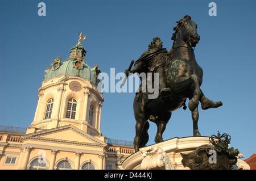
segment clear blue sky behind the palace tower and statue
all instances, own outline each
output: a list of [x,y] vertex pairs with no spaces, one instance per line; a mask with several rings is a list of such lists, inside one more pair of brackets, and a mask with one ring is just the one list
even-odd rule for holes
[[[217,16],[208,15],[211,1],[43,1],[46,16],[37,14],[40,1],[2,1],[0,6],[0,124],[27,127],[34,119],[38,88],[44,70],[56,56],[65,60],[77,43],[77,32],[86,40],[86,61],[109,73],[125,70],[131,59],[159,36],[171,48],[176,20],[191,15],[201,40],[195,49],[204,70],[201,89],[224,105],[203,111],[202,136],[220,131],[232,136],[232,146],[245,157],[256,150],[256,11],[255,1],[214,1]],[[134,93],[106,93],[102,133],[110,138],[133,140]],[[150,142],[156,126],[150,123]],[[192,136],[189,110],[172,113],[164,139]]]

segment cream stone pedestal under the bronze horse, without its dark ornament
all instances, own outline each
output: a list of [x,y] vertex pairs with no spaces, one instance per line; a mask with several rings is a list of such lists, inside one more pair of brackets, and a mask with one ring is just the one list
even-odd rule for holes
[[[184,167],[181,154],[189,154],[200,146],[210,145],[209,137],[171,138],[158,144],[146,146],[130,155],[119,165],[122,170],[190,170]],[[204,147],[204,146],[203,146]],[[201,151],[201,150],[200,150]],[[201,153],[201,152],[200,152]],[[192,154],[193,155],[193,154]],[[206,154],[203,155],[205,157]],[[192,158],[193,160],[193,158]],[[189,161],[188,161],[189,162]],[[238,159],[238,163],[243,162]],[[237,165],[233,169],[241,169]],[[246,164],[245,162],[243,164]],[[243,168],[246,166],[243,165]]]

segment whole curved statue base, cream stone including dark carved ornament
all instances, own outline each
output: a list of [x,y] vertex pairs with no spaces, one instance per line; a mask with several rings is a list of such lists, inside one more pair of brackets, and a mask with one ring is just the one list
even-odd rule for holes
[[[119,169],[125,170],[189,170],[249,169],[237,159],[238,150],[214,145],[210,137],[172,138],[146,146],[126,158]],[[217,138],[214,138],[216,140]],[[217,149],[216,149],[217,148]],[[238,161],[237,161],[238,160]],[[242,163],[242,164],[241,164]]]

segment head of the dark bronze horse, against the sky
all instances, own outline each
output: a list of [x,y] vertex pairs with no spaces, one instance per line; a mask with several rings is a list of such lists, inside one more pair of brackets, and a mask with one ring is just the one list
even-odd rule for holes
[[197,24],[193,22],[190,16],[186,15],[184,18],[177,22],[177,26],[174,28],[174,35],[172,39],[175,40],[176,36],[180,36],[181,39],[188,43],[191,47],[196,47],[196,44],[200,40],[200,36],[197,33]]

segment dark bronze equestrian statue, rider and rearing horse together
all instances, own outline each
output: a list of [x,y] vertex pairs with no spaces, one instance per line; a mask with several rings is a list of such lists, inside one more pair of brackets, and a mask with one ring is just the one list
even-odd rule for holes
[[201,108],[217,108],[222,106],[220,101],[213,102],[205,97],[200,86],[203,82],[203,69],[196,62],[193,47],[199,43],[197,25],[190,16],[184,16],[174,28],[172,40],[174,43],[170,52],[162,46],[159,37],[155,37],[148,50],[135,62],[132,70],[125,73],[158,73],[159,96],[149,99],[147,92],[142,92],[141,87],[134,99],[134,116],[137,121],[134,138],[134,148],[145,146],[148,142],[148,120],[157,125],[155,142],[163,141],[163,132],[171,118],[172,111],[183,106],[188,98],[188,107],[192,113],[193,136],[200,136],[197,121],[199,119],[198,105]]

